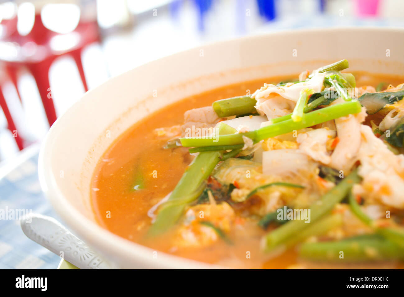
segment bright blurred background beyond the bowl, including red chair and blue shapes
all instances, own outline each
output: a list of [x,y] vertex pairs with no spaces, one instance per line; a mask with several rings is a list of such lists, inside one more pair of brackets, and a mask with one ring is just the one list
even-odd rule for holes
[[0,170],[110,76],[248,34],[403,26],[402,11],[403,0],[0,1]]

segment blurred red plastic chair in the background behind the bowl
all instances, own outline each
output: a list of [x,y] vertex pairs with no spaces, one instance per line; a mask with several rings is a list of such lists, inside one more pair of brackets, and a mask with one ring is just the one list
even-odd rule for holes
[[[15,46],[15,53],[17,53],[17,55],[7,56],[5,53],[0,52],[0,65],[2,65],[3,68],[0,71],[4,71],[6,73],[6,77],[8,77],[8,79],[14,84],[17,93],[17,73],[19,70],[26,68],[29,70],[29,72],[31,72],[38,86],[38,91],[42,99],[46,117],[49,125],[51,126],[53,122],[55,122],[57,116],[53,99],[48,95],[50,93],[50,66],[58,57],[61,57],[62,55],[70,55],[76,62],[84,90],[88,91],[81,54],[84,47],[87,45],[94,42],[100,42],[97,21],[80,21],[76,29],[74,29],[72,32],[67,34],[59,34],[47,29],[42,23],[41,15],[38,13],[35,15],[32,30],[26,36],[21,36],[17,31],[17,17],[2,21],[0,25],[4,26],[3,32],[5,32],[4,36],[2,36],[0,39],[0,43],[8,42],[8,45]],[[64,49],[63,51],[58,51],[57,49],[52,48],[52,38],[57,36],[68,37],[67,35],[69,34],[74,34],[77,37],[77,42],[75,44],[71,44],[70,47]],[[27,51],[24,51],[23,49],[29,49],[29,55],[24,54]],[[21,100],[20,96],[19,99]],[[8,128],[10,130],[14,130],[15,124],[11,118],[10,112],[8,111],[3,95],[0,96],[0,105],[4,114],[6,115]],[[18,137],[16,137],[17,145],[20,149],[22,149],[23,142],[17,138]]]

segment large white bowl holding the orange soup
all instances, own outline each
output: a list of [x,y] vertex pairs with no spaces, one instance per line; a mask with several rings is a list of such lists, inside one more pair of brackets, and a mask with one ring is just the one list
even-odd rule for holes
[[226,84],[298,74],[341,59],[348,59],[349,70],[404,74],[403,45],[403,29],[295,30],[201,46],[147,63],[88,91],[57,119],[40,152],[42,189],[67,226],[114,267],[213,268],[162,252],[155,259],[153,250],[97,225],[90,179],[107,147],[151,112]]

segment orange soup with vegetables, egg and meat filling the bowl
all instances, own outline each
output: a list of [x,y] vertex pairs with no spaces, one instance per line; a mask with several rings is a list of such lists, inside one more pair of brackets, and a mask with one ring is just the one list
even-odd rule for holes
[[[404,78],[362,72],[346,76],[334,70],[318,72],[318,74],[313,72],[312,74],[314,76],[309,76],[309,72],[303,72],[299,77],[300,82],[295,82],[296,76],[290,76],[271,77],[224,86],[185,98],[136,123],[109,147],[95,169],[91,183],[91,197],[99,224],[123,238],[149,246],[157,253],[170,253],[229,267],[316,267],[315,265],[323,262],[336,267],[335,265],[341,264],[337,261],[337,259],[341,259],[339,254],[331,256],[332,259],[328,259],[329,261],[326,257],[326,261],[323,261],[326,256],[324,248],[330,251],[334,249],[333,246],[325,244],[333,242],[347,244],[344,240],[356,240],[355,244],[366,245],[359,252],[347,251],[345,256],[348,259],[343,262],[344,265],[381,267],[380,263],[383,261],[385,263],[383,265],[397,267],[397,263],[402,259],[397,256],[402,254],[398,243],[393,240],[389,249],[381,251],[376,247],[380,243],[386,245],[385,240],[390,240],[388,235],[383,236],[383,232],[387,233],[391,229],[401,235],[404,214],[402,211],[404,208],[403,197],[397,197],[391,201],[387,198],[382,200],[380,197],[375,197],[371,194],[372,190],[367,188],[369,183],[364,183],[367,182],[368,177],[363,176],[362,184],[358,183],[355,188],[356,192],[354,192],[357,204],[354,204],[355,201],[352,202],[343,197],[345,200],[339,199],[327,210],[316,209],[316,206],[313,205],[326,199],[327,193],[332,199],[333,195],[330,194],[332,189],[342,187],[343,182],[347,183],[351,176],[349,173],[355,173],[354,168],[357,166],[365,166],[366,160],[366,157],[353,158],[348,161],[341,157],[332,160],[333,154],[342,149],[338,148],[339,143],[346,141],[344,138],[351,141],[349,137],[346,137],[347,135],[342,134],[343,130],[339,130],[339,128],[343,129],[344,123],[338,123],[334,119],[349,118],[349,114],[359,114],[356,110],[356,112],[332,118],[333,110],[337,110],[335,107],[339,105],[332,102],[341,100],[343,97],[339,93],[337,94],[339,85],[333,86],[332,84],[338,82],[341,85],[352,87],[351,90],[354,90],[353,78],[356,86],[359,87],[357,89],[360,94],[353,94],[358,91],[355,88],[352,94],[349,92],[345,94],[349,96],[349,99],[364,98],[366,94],[381,94],[376,93],[372,87],[379,87],[384,93],[396,92],[397,103],[391,101],[391,107],[383,105],[380,110],[368,114],[366,119],[358,122],[360,126],[371,127],[371,131],[376,134],[385,135],[385,131],[389,129],[381,131],[379,128],[380,125],[386,124],[386,121],[383,120],[393,108],[401,108],[398,103],[403,97],[399,93],[403,92],[402,88],[401,86],[393,88],[393,86],[404,82]],[[326,84],[329,77],[331,77],[330,86]],[[318,83],[316,80],[321,81]],[[279,82],[283,83],[279,84]],[[278,85],[275,86],[275,84]],[[300,88],[299,91],[301,84],[305,88]],[[389,86],[390,84],[392,86]],[[262,87],[263,85],[264,87]],[[318,89],[315,89],[316,87]],[[349,91],[349,87],[345,89]],[[282,97],[282,91],[271,93],[267,91],[270,88],[275,91],[284,89],[286,93],[297,94],[293,96],[298,98],[296,98],[296,102],[286,99]],[[292,88],[297,91],[291,91]],[[254,93],[255,90],[258,91]],[[265,97],[266,91],[269,94]],[[305,92],[307,93],[305,94]],[[239,100],[244,100],[242,102],[253,100],[254,108],[249,105],[249,107],[242,106],[240,110],[240,106],[236,104],[238,107],[234,105],[236,106],[234,109],[234,106],[231,105],[234,102],[231,101],[230,109],[233,109],[228,111],[226,108],[228,108],[229,101],[223,101],[223,99],[240,95],[246,95],[238,97]],[[304,112],[299,114],[299,108],[297,108],[299,99],[305,95],[306,102],[300,100],[303,102],[300,104],[303,106]],[[333,96],[336,98],[328,98]],[[320,98],[320,101],[323,100],[320,102],[321,104],[311,111],[305,110],[312,102],[316,102],[315,97]],[[360,102],[365,106],[368,104],[366,101],[372,101],[374,107],[376,103],[379,103],[377,100],[378,98],[367,98]],[[265,103],[268,101],[271,103]],[[240,114],[226,114],[225,116],[217,114],[220,119],[215,118],[212,121],[209,118],[211,115],[208,113],[210,109],[201,110],[200,108],[212,106],[214,102],[226,103],[215,109],[216,112],[219,110],[219,114],[220,112]],[[351,104],[349,108],[354,108],[358,102],[347,100],[340,104],[345,103]],[[370,105],[368,104],[369,109]],[[305,120],[310,120],[311,116],[316,117],[316,114],[312,113],[326,107],[331,107],[330,112],[327,112],[331,114],[328,116],[331,117],[329,120],[310,122],[306,124],[309,126],[302,128]],[[193,109],[194,111],[192,111]],[[189,110],[191,112],[187,112]],[[202,124],[198,122],[198,116],[201,118],[201,114],[198,114],[200,111],[203,111],[204,122],[202,121]],[[302,117],[302,115],[303,119],[299,120],[299,116]],[[286,117],[286,120],[280,122],[273,120],[279,120],[282,117]],[[358,118],[358,116],[356,117]],[[352,119],[350,120],[352,121]],[[217,146],[221,150],[215,149],[216,144],[213,141],[218,139],[220,144],[220,134],[223,134],[220,132],[215,134],[215,129],[220,131],[218,128],[220,125],[222,125],[221,129],[224,127],[226,135],[234,133],[236,136],[252,137],[251,131],[264,131],[263,128],[266,126],[277,125],[284,129],[286,125],[282,122],[289,123],[292,128],[296,128],[289,129],[290,131],[284,130],[286,132],[279,135],[264,136],[263,139],[248,138],[252,139],[248,145],[248,139],[242,138],[243,143],[224,143],[224,146]],[[208,133],[208,135],[202,135],[203,133]],[[270,131],[270,133],[272,132]],[[297,135],[293,135],[294,133]],[[377,136],[383,137],[383,135]],[[366,136],[362,135],[362,138]],[[182,143],[181,145],[180,137],[195,140],[197,143],[201,143],[201,146],[197,143],[191,145]],[[208,145],[202,144],[200,141],[205,139],[212,140],[212,142]],[[316,139],[322,140],[316,142]],[[314,141],[314,146],[311,145],[310,140]],[[235,139],[235,141],[237,140]],[[395,152],[395,154],[392,153],[393,156],[401,158],[400,146],[392,145],[386,140],[383,141],[386,143],[386,147],[388,145]],[[365,143],[365,141],[361,143]],[[190,154],[190,147],[194,147],[193,150],[198,152]],[[366,151],[365,144],[359,144],[357,153],[359,154],[362,150]],[[213,169],[211,173],[202,172],[202,175],[208,175],[207,179],[202,178],[203,182],[200,182],[199,173],[196,171],[195,177],[186,179],[188,185],[180,185],[184,172],[192,173],[191,167],[198,162],[198,158],[200,160],[206,158],[206,161],[210,160],[210,157],[216,158],[214,154],[219,156],[219,162],[214,162],[210,166]],[[195,157],[196,155],[198,157]],[[278,158],[283,160],[280,164],[268,165],[268,162],[274,163]],[[200,170],[203,171],[206,162],[202,161],[200,162],[205,164],[202,164]],[[292,163],[289,164],[290,162]],[[327,166],[331,162],[335,164],[340,162],[338,166],[343,165],[344,167]],[[346,164],[342,164],[344,162]],[[345,173],[343,177],[339,176],[341,171]],[[398,183],[403,182],[404,178],[400,174],[399,172],[398,177],[394,177]],[[179,187],[188,189],[189,192],[183,192],[178,198],[172,198]],[[382,185],[379,192],[384,193],[383,191],[388,192],[390,189],[386,185]],[[388,197],[388,194],[385,196]],[[378,233],[369,224],[358,219],[354,214],[355,207],[364,211],[367,215],[366,218],[368,215],[374,215],[372,220],[380,222],[379,228],[383,228],[382,235],[375,235],[380,232]],[[378,213],[379,216],[372,211]],[[394,220],[394,223],[383,219],[386,211],[390,211],[391,222]],[[164,218],[165,212],[166,217]],[[297,215],[301,215],[301,217],[297,218]],[[279,239],[271,236],[274,234],[282,236],[280,233],[282,228],[290,223],[295,224],[297,230],[301,231],[292,232],[289,238],[276,244],[276,240]],[[160,227],[156,227],[159,224]],[[321,228],[321,225],[329,227]],[[322,230],[316,230],[316,228]],[[278,234],[274,233],[275,231]],[[385,254],[389,254],[391,251],[394,252],[393,256],[387,257]],[[376,256],[372,257],[371,253],[375,253]],[[385,256],[387,259],[383,258]]]

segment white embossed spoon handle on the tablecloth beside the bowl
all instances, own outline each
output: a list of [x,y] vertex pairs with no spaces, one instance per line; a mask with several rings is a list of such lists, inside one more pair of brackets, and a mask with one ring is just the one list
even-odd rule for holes
[[52,217],[30,213],[21,219],[21,229],[28,238],[80,269],[110,268],[97,253]]

